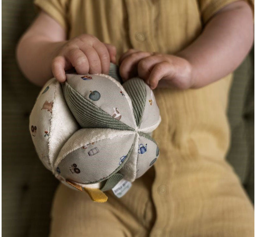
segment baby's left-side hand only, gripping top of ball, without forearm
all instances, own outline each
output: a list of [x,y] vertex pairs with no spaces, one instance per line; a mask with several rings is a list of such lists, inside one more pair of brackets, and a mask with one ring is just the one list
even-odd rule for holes
[[65,70],[72,67],[78,74],[108,74],[110,62],[116,62],[116,48],[102,43],[89,34],[79,35],[64,42],[52,61],[53,76],[59,81],[66,80]]

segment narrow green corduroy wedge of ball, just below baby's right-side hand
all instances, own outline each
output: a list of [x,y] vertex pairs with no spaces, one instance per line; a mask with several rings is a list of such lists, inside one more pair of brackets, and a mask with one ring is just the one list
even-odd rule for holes
[[136,124],[140,126],[146,100],[145,83],[142,79],[134,77],[125,82],[123,87],[131,98]]

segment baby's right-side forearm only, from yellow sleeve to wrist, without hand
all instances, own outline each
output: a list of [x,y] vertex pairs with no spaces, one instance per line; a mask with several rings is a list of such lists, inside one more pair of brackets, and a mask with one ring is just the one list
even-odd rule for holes
[[192,64],[192,88],[199,88],[234,71],[252,43],[252,10],[239,1],[218,12],[203,33],[178,56]]

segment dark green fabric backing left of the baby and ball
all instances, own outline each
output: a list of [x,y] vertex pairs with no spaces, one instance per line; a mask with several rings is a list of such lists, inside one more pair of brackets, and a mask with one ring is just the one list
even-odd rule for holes
[[29,114],[40,88],[21,74],[15,47],[35,16],[32,0],[2,1],[2,236],[48,236],[58,185],[34,149]]

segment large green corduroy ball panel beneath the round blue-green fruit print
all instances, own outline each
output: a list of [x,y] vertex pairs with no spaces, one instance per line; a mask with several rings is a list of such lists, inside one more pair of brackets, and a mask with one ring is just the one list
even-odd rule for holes
[[114,119],[108,113],[95,106],[92,102],[86,100],[67,82],[63,85],[63,94],[71,112],[81,127],[112,128],[134,131],[133,128]]

